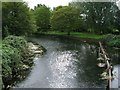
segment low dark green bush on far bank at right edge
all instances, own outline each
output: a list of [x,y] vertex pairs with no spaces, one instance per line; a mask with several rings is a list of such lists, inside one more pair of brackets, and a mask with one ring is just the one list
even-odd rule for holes
[[106,44],[111,47],[120,48],[120,35],[108,35],[106,37]]

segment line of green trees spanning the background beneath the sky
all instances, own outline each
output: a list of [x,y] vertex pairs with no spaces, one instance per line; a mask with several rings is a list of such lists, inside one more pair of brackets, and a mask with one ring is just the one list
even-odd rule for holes
[[2,35],[31,35],[48,31],[89,32],[107,34],[120,32],[120,10],[116,2],[79,2],[51,10],[38,4],[30,9],[25,2],[2,3]]

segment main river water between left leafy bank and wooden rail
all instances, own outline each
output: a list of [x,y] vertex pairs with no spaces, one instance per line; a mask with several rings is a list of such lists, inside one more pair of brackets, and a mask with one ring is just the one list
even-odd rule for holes
[[47,52],[35,57],[30,74],[15,88],[105,88],[105,80],[100,79],[104,69],[97,66],[97,45],[56,36],[32,41]]

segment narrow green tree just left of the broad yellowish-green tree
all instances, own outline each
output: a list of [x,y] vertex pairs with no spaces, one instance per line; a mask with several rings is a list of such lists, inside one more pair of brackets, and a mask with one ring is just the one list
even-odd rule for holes
[[45,5],[38,4],[34,9],[34,15],[38,32],[48,31],[50,29],[50,9]]

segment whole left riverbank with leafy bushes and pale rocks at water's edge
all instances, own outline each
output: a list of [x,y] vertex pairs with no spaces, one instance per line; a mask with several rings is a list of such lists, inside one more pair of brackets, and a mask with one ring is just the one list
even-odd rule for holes
[[36,54],[42,55],[45,49],[39,44],[28,42],[20,36],[8,36],[2,43],[2,80],[3,90],[29,74]]

